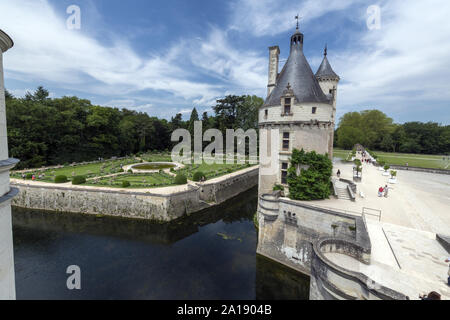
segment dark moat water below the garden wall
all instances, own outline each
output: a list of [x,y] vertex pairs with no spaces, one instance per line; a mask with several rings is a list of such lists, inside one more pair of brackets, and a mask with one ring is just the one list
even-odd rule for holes
[[256,206],[254,188],[165,224],[13,208],[17,299],[308,299],[308,277],[256,255]]

